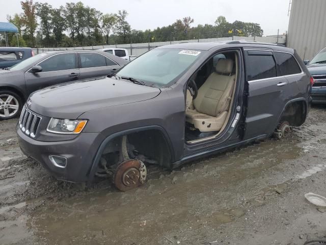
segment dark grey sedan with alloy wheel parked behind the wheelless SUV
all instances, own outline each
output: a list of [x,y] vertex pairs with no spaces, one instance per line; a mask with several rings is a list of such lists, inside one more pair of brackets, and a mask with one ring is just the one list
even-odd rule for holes
[[55,51],[0,70],[0,119],[17,115],[28,96],[41,88],[106,76],[127,61],[101,51]]

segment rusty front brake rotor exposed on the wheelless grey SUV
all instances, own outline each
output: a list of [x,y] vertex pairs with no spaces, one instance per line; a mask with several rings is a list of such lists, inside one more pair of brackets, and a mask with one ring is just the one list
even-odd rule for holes
[[113,182],[121,191],[131,190],[143,184],[146,180],[147,170],[140,160],[127,160],[119,164]]

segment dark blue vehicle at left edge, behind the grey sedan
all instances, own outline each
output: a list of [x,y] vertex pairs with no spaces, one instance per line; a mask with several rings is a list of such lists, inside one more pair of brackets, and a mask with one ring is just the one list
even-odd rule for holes
[[13,66],[34,56],[30,47],[0,47],[0,68]]

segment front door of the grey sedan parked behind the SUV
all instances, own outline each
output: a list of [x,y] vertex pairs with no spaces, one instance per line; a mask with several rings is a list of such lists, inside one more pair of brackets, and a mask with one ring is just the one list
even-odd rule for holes
[[[62,63],[65,62],[66,60],[64,59],[65,56],[70,54],[70,59],[71,57],[74,57],[74,62],[75,65],[73,64],[67,64],[67,63]],[[51,56],[47,58],[47,63],[51,62],[51,58],[54,56]],[[67,57],[67,56],[66,56]],[[52,58],[54,60],[54,58]],[[45,65],[45,60],[39,62],[39,65],[42,67],[42,64]],[[73,60],[69,60],[69,62],[73,62]],[[35,74],[31,73],[30,71],[26,71],[24,74],[25,77],[25,83],[26,83],[26,88],[28,89],[29,93],[32,93],[36,90],[60,84],[60,83],[66,83],[66,82],[71,82],[79,79],[79,69],[78,68],[73,68],[73,69],[64,69],[66,68],[71,68],[71,67],[77,67],[77,59],[76,59],[76,54],[75,53],[63,53],[63,54],[56,54],[56,63],[51,65],[46,65],[45,71],[37,72]],[[58,66],[57,64],[60,63]],[[56,66],[57,65],[57,66]],[[51,70],[56,68],[60,70]]]

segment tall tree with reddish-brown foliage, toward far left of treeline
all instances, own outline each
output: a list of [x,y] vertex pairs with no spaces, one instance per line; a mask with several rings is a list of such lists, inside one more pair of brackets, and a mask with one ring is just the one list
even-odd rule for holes
[[24,26],[24,34],[29,40],[29,45],[34,47],[35,45],[35,31],[37,28],[36,19],[36,6],[33,4],[33,0],[26,0],[25,2],[20,2],[21,8],[23,10],[22,24]]

